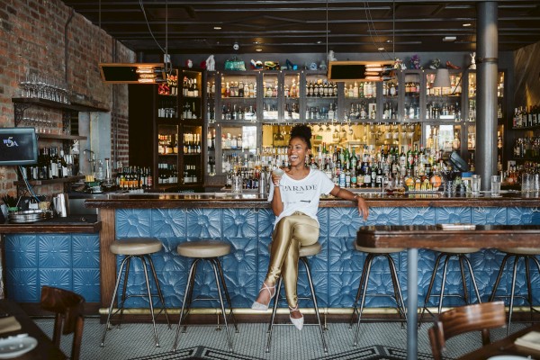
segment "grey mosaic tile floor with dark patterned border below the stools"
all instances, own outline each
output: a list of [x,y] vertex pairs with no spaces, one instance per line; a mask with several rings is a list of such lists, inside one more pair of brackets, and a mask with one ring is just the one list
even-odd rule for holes
[[[49,336],[52,334],[53,320],[36,320]],[[512,331],[527,324],[516,324]],[[428,327],[419,330],[419,359],[429,359],[431,349],[428,342]],[[329,323],[327,342],[329,353],[325,354],[320,345],[320,334],[316,327],[306,327],[298,331],[293,327],[277,327],[272,339],[270,353],[266,353],[266,324],[238,324],[239,333],[231,331],[234,353],[228,351],[224,329],[215,326],[189,327],[181,334],[180,346],[172,353],[175,326],[157,326],[161,347],[154,347],[150,324],[122,324],[121,329],[113,328],[107,334],[105,347],[100,347],[103,325],[97,319],[85,320],[85,332],[81,360],[173,360],[173,359],[288,359],[288,360],[352,360],[352,359],[404,359],[405,329],[401,323],[377,322],[362,324],[358,347],[353,347],[353,329],[347,324]],[[232,328],[231,328],[232,329]],[[504,338],[506,329],[492,332],[492,340]],[[452,338],[448,342],[449,358],[460,356],[480,347],[480,334],[470,334]],[[70,338],[62,342],[65,354],[70,352]]]

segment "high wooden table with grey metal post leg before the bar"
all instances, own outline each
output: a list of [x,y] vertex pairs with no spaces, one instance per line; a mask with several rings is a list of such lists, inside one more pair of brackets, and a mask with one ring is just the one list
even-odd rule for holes
[[477,225],[443,230],[435,225],[374,225],[358,229],[362,247],[407,247],[407,359],[418,358],[418,249],[437,247],[540,247],[538,225]]

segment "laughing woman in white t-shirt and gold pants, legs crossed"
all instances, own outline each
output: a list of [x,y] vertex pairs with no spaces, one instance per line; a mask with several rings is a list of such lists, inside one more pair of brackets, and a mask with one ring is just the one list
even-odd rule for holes
[[[341,199],[357,202],[358,213],[367,220],[365,200],[334,184],[327,175],[306,165],[311,153],[311,128],[296,125],[291,130],[287,155],[289,168],[282,174],[272,173],[268,201],[276,219],[272,234],[272,250],[266,280],[251,309],[266,311],[275,296],[275,284],[283,274],[285,293],[289,303],[290,318],[296,329],[302,330],[303,316],[298,309],[296,285],[298,281],[299,250],[319,239],[319,199],[331,193]],[[277,174],[276,174],[277,173]]]

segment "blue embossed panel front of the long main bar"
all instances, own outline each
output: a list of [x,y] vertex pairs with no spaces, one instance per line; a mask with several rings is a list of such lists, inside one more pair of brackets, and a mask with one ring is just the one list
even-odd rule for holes
[[[356,296],[359,277],[364,266],[365,254],[354,248],[356,230],[363,225],[408,225],[436,223],[475,223],[475,224],[540,224],[540,212],[531,207],[372,207],[367,221],[362,220],[356,208],[321,207],[320,243],[322,251],[311,258],[311,270],[321,307],[350,308]],[[274,223],[270,209],[261,208],[171,208],[171,209],[116,209],[116,238],[156,237],[163,249],[153,255],[159,281],[166,298],[167,306],[181,307],[185,281],[189,270],[188,260],[176,253],[178,244],[198,239],[219,239],[231,244],[232,252],[222,258],[223,269],[228,282],[232,302],[236,308],[249,308],[257,296],[259,286],[266,276],[268,266],[268,243]],[[437,252],[419,251],[419,305],[423,304],[429,277]],[[474,275],[479,285],[482,301],[491,294],[494,277],[497,275],[503,254],[495,249],[484,249],[470,255]],[[407,253],[394,255],[403,292],[406,293]],[[27,260],[31,261],[31,260]],[[117,266],[121,257],[116,259]],[[450,264],[446,292],[461,293],[459,266]],[[215,297],[213,273],[210,267],[198,272],[195,296]],[[302,266],[301,266],[302,271]],[[525,269],[519,268],[520,274]],[[129,291],[144,290],[142,269],[136,265],[134,276],[130,279]],[[37,275],[35,275],[37,276]],[[299,278],[299,293],[307,284],[303,276]],[[440,276],[435,291],[440,291]],[[503,281],[509,282],[509,277]],[[533,275],[533,283],[540,281]],[[507,284],[506,288],[509,288]],[[526,284],[519,281],[518,293],[527,293]],[[504,287],[504,286],[501,286]],[[384,262],[375,263],[368,293],[380,293],[392,289],[392,279]],[[540,289],[534,289],[537,302]],[[471,286],[468,286],[470,295]],[[436,300],[437,301],[437,300]],[[130,298],[128,307],[146,307],[144,298]],[[517,304],[523,300],[517,299]],[[458,305],[459,299],[449,298],[449,305]],[[195,307],[209,307],[209,302],[195,302]],[[213,306],[213,305],[212,305]],[[393,307],[386,298],[368,298],[366,306]]]

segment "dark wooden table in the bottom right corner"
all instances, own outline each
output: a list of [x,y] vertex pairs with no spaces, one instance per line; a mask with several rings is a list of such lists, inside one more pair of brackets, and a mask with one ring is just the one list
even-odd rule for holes
[[531,356],[534,359],[540,358],[540,351],[531,349],[529,347],[520,347],[514,344],[517,338],[524,336],[530,331],[540,331],[540,324],[535,324],[534,326],[520,330],[511,334],[508,338],[502,338],[499,341],[496,341],[488,346],[481,347],[472,353],[469,353],[465,356],[458,358],[457,360],[478,360],[478,359],[487,359],[491,356],[501,356],[501,355],[513,355],[513,356]]

